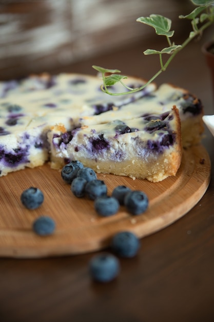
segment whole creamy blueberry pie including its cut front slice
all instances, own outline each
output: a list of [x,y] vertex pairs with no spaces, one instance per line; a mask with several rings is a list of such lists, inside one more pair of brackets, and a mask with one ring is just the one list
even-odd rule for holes
[[[145,83],[133,77],[124,82]],[[0,82],[0,175],[48,160],[59,169],[71,159],[96,172],[150,181],[176,174],[181,136],[184,147],[201,140],[200,100],[170,84],[151,83],[124,96],[103,93],[101,84],[99,77],[81,74]],[[124,87],[115,84],[111,92]]]

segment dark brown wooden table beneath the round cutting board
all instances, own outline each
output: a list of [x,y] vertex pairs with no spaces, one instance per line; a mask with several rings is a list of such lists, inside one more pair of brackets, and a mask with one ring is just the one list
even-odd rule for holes
[[[91,65],[96,64],[148,78],[159,63],[157,57],[145,57],[143,50],[159,45],[142,41],[75,63],[67,71],[95,74]],[[211,78],[201,45],[189,45],[157,82],[187,88],[202,99],[205,114],[213,114]],[[213,164],[214,139],[207,129],[203,144]],[[93,282],[88,274],[91,257],[0,259],[0,321],[213,322],[213,171],[200,202],[176,223],[142,239],[138,256],[121,260],[116,280]]]

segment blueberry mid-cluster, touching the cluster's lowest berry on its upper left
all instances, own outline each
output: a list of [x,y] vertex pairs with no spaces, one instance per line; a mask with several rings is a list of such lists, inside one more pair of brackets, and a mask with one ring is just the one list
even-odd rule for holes
[[85,186],[85,194],[89,199],[95,200],[107,194],[107,186],[103,180],[89,181]]

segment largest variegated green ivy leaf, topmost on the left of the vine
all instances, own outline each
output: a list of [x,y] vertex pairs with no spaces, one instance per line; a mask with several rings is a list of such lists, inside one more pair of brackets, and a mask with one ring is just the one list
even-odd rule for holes
[[140,17],[137,21],[153,27],[155,32],[159,35],[172,37],[174,34],[173,30],[170,31],[171,20],[160,14],[150,14],[149,17]]

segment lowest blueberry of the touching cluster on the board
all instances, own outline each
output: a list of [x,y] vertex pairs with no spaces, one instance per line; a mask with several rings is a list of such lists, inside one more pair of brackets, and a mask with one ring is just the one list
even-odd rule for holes
[[110,196],[102,196],[94,201],[96,212],[102,217],[108,217],[118,212],[120,207],[119,201]]

